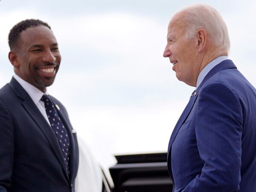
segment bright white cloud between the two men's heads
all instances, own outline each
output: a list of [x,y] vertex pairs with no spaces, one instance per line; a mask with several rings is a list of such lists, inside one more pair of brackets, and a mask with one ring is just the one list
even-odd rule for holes
[[95,49],[99,57],[101,54],[124,58],[136,56],[134,54],[155,54],[154,47],[162,46],[161,41],[155,39],[165,40],[165,36],[162,36],[163,26],[157,21],[123,13],[56,20],[52,26],[55,26],[52,28],[61,45],[89,47]]

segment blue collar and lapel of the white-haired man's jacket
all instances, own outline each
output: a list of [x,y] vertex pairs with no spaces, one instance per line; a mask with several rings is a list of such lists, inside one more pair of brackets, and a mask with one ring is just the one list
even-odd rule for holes
[[175,125],[174,130],[172,131],[172,135],[169,141],[169,145],[168,145],[168,153],[167,153],[167,158],[169,158],[169,153],[171,151],[171,147],[172,147],[172,143],[175,140],[175,137],[181,127],[181,125],[183,124],[183,122],[185,121],[185,119],[187,118],[187,116],[189,115],[189,112],[191,111],[192,107],[194,106],[194,103],[197,99],[198,94],[200,93],[200,89],[201,86],[211,77],[213,76],[215,73],[217,73],[218,71],[224,70],[224,69],[230,69],[230,68],[236,68],[235,64],[231,61],[231,60],[224,60],[221,63],[219,63],[218,65],[216,65],[215,67],[212,68],[212,70],[209,71],[209,73],[205,76],[204,80],[201,82],[201,84],[199,85],[198,89],[197,89],[197,94],[196,96],[193,98],[192,96],[192,101],[190,100],[189,103],[187,104],[186,108],[184,109],[183,113],[180,116],[180,119],[178,120],[177,124]]

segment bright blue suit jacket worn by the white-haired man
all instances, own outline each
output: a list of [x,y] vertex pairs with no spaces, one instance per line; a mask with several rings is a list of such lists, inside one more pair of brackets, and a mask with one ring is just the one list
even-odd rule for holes
[[255,88],[225,60],[194,97],[169,142],[173,191],[256,192]]

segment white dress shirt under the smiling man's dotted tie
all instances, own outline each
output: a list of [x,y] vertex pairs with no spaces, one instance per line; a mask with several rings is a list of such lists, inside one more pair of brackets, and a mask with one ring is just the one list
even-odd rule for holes
[[48,122],[49,125],[51,125],[49,122],[49,119],[47,117],[46,111],[45,111],[44,102],[40,100],[44,94],[48,95],[47,90],[45,93],[43,93],[41,90],[34,87],[32,84],[29,84],[28,82],[24,81],[16,74],[14,74],[13,77],[14,77],[14,79],[16,79],[18,81],[18,83],[21,85],[21,87],[23,87],[23,89],[29,94],[32,101],[35,103],[35,105],[38,107],[39,111],[44,116],[44,119]]

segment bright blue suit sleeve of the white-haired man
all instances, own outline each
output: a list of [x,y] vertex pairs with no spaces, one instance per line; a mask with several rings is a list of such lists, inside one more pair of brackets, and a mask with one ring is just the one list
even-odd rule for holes
[[239,190],[242,123],[242,105],[229,87],[215,82],[201,89],[195,134],[204,166],[201,174],[177,191]]

